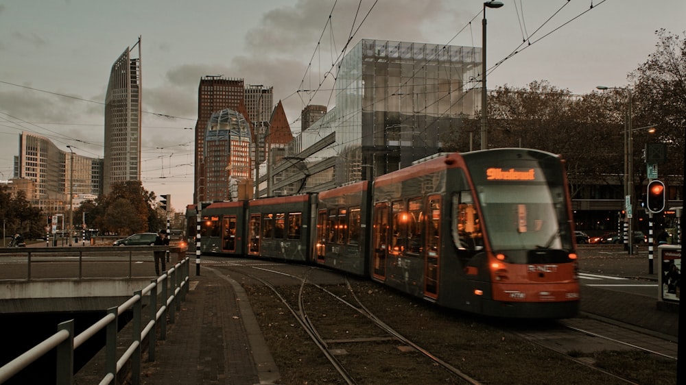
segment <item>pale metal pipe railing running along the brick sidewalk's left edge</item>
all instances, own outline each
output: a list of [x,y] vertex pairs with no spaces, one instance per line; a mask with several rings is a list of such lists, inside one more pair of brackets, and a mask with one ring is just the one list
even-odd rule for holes
[[[147,360],[154,361],[158,334],[162,340],[166,338],[167,318],[169,323],[174,323],[176,312],[181,310],[180,301],[185,300],[188,287],[189,258],[186,257],[163,275],[152,280],[145,288],[136,291],[130,299],[119,306],[108,309],[106,316],[82,333],[74,335],[73,320],[60,323],[58,332],[0,367],[0,384],[20,373],[53,349],[56,350],[57,356],[56,384],[73,384],[74,350],[101,330],[105,330],[106,343],[104,347],[104,373],[102,373],[103,377],[99,383],[116,384],[117,375],[127,363],[130,363],[131,381],[138,384],[141,376],[141,346],[143,341],[147,338]],[[147,316],[143,314],[143,298],[145,296],[148,297],[147,308],[150,309]],[[162,299],[159,306],[158,296]],[[132,330],[131,343],[118,358],[117,344],[122,336],[119,336],[117,320],[119,315],[128,310],[132,310],[133,315],[133,319],[130,321],[132,323],[130,328]],[[95,359],[93,358],[93,360]]]

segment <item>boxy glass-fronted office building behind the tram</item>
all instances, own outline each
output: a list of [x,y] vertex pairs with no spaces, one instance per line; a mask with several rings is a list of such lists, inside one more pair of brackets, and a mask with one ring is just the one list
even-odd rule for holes
[[[480,58],[474,47],[361,40],[340,62],[335,108],[288,147],[302,164],[274,173],[301,174],[304,190],[319,191],[442,151],[442,140],[481,107]],[[283,183],[274,190],[303,190],[301,180]]]

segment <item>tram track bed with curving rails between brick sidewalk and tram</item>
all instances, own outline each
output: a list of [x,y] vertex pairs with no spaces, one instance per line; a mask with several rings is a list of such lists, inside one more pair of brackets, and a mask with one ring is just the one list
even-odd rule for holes
[[[438,308],[368,280],[346,282],[327,269],[262,260],[212,264],[246,288],[284,383],[660,383],[617,374],[621,368],[601,369],[594,352],[636,349],[591,328],[586,317],[521,330]],[[627,334],[617,325],[609,328]],[[646,349],[664,355],[650,353],[657,360],[673,361],[669,352]],[[626,367],[646,371],[648,378],[665,377],[642,361]],[[676,375],[676,369],[666,370]]]

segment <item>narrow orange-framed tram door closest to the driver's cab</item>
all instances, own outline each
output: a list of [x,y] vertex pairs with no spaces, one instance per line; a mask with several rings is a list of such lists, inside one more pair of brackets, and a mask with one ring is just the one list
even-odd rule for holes
[[440,195],[429,197],[429,211],[426,221],[427,250],[424,266],[424,295],[438,298],[438,268],[440,262]]

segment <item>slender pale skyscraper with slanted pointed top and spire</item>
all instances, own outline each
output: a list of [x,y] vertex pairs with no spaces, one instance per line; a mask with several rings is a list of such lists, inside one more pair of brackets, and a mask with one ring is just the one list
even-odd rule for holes
[[[138,46],[138,58],[131,58]],[[119,55],[105,96],[102,192],[115,182],[141,180],[141,38]]]

